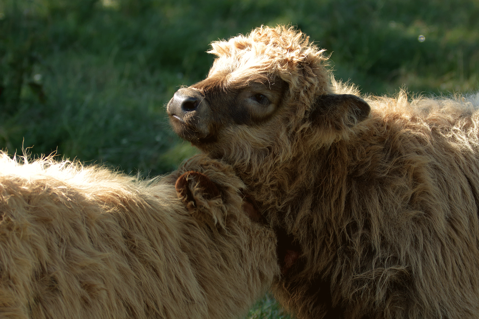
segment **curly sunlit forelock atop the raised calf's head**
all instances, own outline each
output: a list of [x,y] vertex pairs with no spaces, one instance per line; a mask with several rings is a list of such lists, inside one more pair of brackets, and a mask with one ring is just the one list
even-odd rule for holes
[[247,74],[280,77],[289,85],[289,98],[311,105],[314,97],[331,92],[328,59],[294,27],[261,26],[250,34],[238,35],[228,41],[215,41],[208,53],[217,55],[210,75],[226,71],[232,78]]

